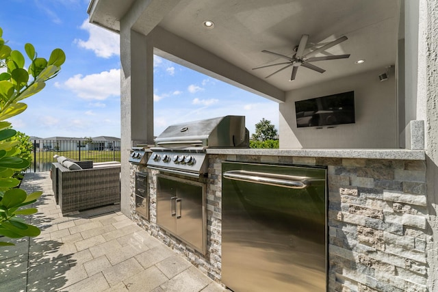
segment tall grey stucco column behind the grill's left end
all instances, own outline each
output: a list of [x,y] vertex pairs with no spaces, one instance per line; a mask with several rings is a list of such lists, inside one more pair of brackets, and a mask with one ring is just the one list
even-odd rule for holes
[[129,22],[124,24],[120,22],[120,208],[130,216],[129,151],[138,144],[153,144],[153,47]]

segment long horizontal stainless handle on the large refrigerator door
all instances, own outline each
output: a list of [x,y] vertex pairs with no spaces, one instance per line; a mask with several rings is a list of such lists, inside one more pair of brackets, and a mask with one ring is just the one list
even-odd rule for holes
[[285,174],[270,174],[266,172],[248,172],[246,170],[230,170],[224,172],[224,178],[234,181],[246,181],[248,183],[260,183],[262,185],[274,185],[289,189],[305,189],[309,185],[306,176],[290,176]]

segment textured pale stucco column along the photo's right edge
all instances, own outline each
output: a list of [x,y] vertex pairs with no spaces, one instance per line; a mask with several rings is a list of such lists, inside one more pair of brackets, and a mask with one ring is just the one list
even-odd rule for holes
[[427,245],[428,289],[438,291],[438,3],[420,0],[419,21],[419,101],[425,118],[426,177],[430,233]]

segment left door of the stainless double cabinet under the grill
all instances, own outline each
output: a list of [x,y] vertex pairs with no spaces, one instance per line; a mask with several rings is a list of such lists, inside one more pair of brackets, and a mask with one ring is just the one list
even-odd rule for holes
[[175,200],[177,183],[157,176],[157,224],[170,233],[177,233]]

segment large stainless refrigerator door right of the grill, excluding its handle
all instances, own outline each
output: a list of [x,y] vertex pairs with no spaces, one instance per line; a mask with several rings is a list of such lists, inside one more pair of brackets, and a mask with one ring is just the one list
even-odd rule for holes
[[[291,189],[224,178],[235,170],[310,183]],[[326,170],[224,162],[222,172],[222,282],[233,291],[326,291]]]

